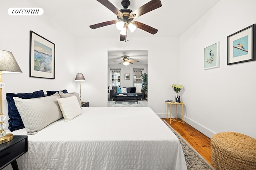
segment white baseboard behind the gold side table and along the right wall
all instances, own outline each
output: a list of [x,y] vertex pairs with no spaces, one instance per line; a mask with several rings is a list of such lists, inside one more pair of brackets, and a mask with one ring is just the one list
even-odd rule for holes
[[[160,117],[161,119],[165,118],[165,113],[156,113],[158,115],[158,117]],[[169,114],[167,114],[167,117]],[[172,117],[176,117],[176,113],[171,113]],[[179,118],[182,118],[182,114],[178,114]],[[208,138],[212,138],[212,135],[216,134],[213,131],[211,131],[210,129],[204,127],[203,125],[200,125],[199,123],[196,123],[196,121],[193,121],[192,119],[184,116],[184,121],[186,123],[188,123],[189,125],[191,125],[192,127],[194,127],[196,130],[200,131],[202,134],[206,135]]]

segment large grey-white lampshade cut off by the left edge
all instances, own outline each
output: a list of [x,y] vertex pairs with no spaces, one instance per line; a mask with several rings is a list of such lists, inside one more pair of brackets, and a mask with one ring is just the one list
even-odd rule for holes
[[22,73],[20,66],[10,51],[0,50],[0,72]]

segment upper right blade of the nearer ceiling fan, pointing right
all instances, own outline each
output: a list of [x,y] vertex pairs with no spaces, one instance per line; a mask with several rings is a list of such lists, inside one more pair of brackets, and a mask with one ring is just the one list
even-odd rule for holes
[[[130,16],[132,16],[132,18],[138,18],[139,16],[142,16],[143,14],[146,14],[146,13],[148,13],[152,10],[155,10],[156,8],[159,8],[161,6],[162,6],[162,4],[161,4],[160,0],[151,0],[150,2],[144,4],[137,10],[134,10],[133,12],[131,12]],[[134,14],[136,16],[133,16]]]

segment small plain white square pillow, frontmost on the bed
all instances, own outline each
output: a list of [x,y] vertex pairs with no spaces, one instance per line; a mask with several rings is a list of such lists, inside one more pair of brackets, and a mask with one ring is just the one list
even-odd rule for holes
[[82,114],[82,109],[77,102],[76,96],[73,95],[67,98],[57,98],[57,100],[66,122]]

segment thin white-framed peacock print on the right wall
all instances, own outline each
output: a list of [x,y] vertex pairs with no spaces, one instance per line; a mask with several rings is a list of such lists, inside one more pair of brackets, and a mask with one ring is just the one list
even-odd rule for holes
[[204,48],[204,69],[220,67],[220,41]]

